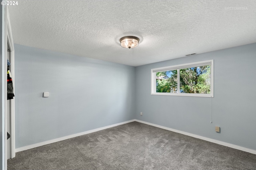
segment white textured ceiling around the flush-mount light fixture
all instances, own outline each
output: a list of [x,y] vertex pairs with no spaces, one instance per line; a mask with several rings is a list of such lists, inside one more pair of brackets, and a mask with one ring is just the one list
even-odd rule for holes
[[[18,0],[14,43],[139,66],[256,43],[256,0]],[[134,49],[120,47],[137,36]]]

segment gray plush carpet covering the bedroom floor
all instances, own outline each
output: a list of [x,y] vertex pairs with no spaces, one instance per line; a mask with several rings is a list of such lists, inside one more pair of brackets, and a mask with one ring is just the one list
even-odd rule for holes
[[256,155],[132,122],[16,153],[8,170],[255,170]]

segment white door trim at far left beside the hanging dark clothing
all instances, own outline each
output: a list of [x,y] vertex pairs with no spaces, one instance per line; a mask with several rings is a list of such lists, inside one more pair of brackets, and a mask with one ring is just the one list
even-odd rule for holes
[[[9,44],[10,48],[10,60],[12,62],[12,84],[13,84],[13,92],[15,94],[15,61],[14,61],[14,43],[12,39],[12,28],[10,24],[10,16],[8,6],[6,6],[7,10],[7,43]],[[10,131],[10,140],[11,140],[11,158],[15,157],[15,97],[11,100],[11,131]],[[7,127],[7,125],[6,125]]]

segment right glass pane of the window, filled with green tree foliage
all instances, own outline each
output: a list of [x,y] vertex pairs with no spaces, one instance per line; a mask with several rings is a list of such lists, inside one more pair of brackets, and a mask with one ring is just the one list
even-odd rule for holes
[[210,94],[211,66],[180,69],[180,93]]

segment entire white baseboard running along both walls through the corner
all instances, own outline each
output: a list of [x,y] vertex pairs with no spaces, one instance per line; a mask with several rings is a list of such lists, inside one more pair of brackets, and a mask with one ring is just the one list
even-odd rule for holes
[[22,150],[27,150],[27,149],[32,149],[32,148],[40,147],[42,145],[47,145],[47,144],[50,144],[50,143],[54,143],[54,142],[58,142],[58,141],[63,141],[63,140],[70,139],[70,138],[73,138],[73,137],[78,137],[78,136],[81,136],[81,135],[86,135],[88,133],[93,133],[93,132],[96,132],[96,131],[101,131],[101,130],[104,130],[104,129],[108,129],[110,127],[115,127],[115,126],[123,125],[123,124],[130,123],[130,122],[133,122],[133,121],[137,121],[137,122],[144,123],[144,124],[147,124],[147,125],[151,125],[151,126],[154,126],[154,127],[159,127],[161,129],[166,129],[168,131],[173,131],[173,132],[180,133],[180,134],[183,134],[183,135],[195,137],[195,138],[198,138],[198,139],[202,139],[204,141],[216,143],[216,144],[223,145],[223,146],[226,146],[226,147],[230,147],[230,148],[233,148],[233,149],[242,150],[244,152],[249,152],[249,153],[252,153],[252,154],[256,154],[256,150],[248,149],[248,148],[245,148],[245,147],[240,147],[238,145],[233,145],[233,144],[230,144],[230,143],[226,143],[226,142],[222,142],[222,141],[217,141],[215,139],[210,139],[210,138],[207,138],[207,137],[202,137],[202,136],[199,136],[199,135],[194,135],[192,133],[187,133],[187,132],[184,132],[184,131],[179,131],[179,130],[176,130],[176,129],[172,129],[172,128],[169,128],[169,127],[164,127],[164,126],[161,126],[161,125],[156,125],[154,123],[148,123],[146,121],[141,121],[141,120],[137,120],[137,119],[132,119],[132,120],[129,120],[129,121],[124,121],[124,122],[121,122],[121,123],[116,123],[114,125],[109,125],[109,126],[105,126],[105,127],[100,127],[100,128],[93,129],[93,130],[90,130],[90,131],[85,131],[85,132],[82,132],[82,133],[76,133],[74,135],[69,135],[69,136],[66,136],[66,137],[61,137],[61,138],[53,139],[53,140],[50,140],[50,141],[36,143],[36,144],[29,145],[29,146],[26,146],[26,147],[20,147],[20,148],[15,149],[15,152],[20,152]]

